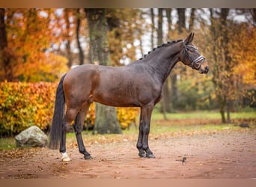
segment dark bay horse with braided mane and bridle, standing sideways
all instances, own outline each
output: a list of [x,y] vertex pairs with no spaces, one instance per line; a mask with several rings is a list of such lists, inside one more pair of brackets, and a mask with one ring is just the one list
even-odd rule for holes
[[62,160],[69,161],[66,153],[66,131],[73,127],[79,153],[92,159],[82,140],[82,124],[91,102],[121,107],[140,107],[138,156],[154,158],[148,147],[150,117],[153,106],[161,99],[162,85],[178,61],[208,73],[204,56],[192,43],[194,33],[185,40],[175,40],[153,49],[144,58],[124,67],[106,67],[84,64],[65,74],[58,84],[55,111],[50,132],[50,148],[57,148],[60,141]]

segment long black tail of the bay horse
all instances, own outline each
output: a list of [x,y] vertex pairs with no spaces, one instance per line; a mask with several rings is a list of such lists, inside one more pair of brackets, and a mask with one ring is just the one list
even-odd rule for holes
[[62,128],[65,123],[65,96],[63,91],[63,82],[66,74],[61,77],[55,96],[55,108],[52,118],[52,126],[49,133],[49,148],[56,150],[61,141]]

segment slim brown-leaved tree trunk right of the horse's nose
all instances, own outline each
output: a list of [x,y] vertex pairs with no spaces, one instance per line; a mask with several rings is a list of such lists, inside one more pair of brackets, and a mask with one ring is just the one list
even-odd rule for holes
[[[214,10],[210,9],[211,26],[210,31],[213,36],[213,59],[216,61],[213,67],[213,84],[216,87],[216,96],[219,102],[222,123],[226,123],[225,110],[228,112],[228,123],[231,121],[229,98],[229,86],[232,84],[231,74],[231,58],[228,51],[228,12],[229,9],[222,8],[219,18],[213,16]],[[226,73],[225,73],[226,72]]]

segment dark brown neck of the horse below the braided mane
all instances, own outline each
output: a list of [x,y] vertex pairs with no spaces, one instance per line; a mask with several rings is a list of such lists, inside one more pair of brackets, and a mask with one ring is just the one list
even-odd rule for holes
[[165,82],[177,62],[180,61],[180,50],[180,43],[174,43],[171,46],[165,47],[165,49],[159,49],[159,53],[154,55],[155,59],[150,61],[153,71],[156,73],[162,84]]

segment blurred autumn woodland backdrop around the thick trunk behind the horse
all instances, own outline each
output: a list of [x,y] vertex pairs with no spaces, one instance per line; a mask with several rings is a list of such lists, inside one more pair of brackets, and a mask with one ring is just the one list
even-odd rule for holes
[[[161,108],[219,108],[224,122],[226,113],[255,105],[255,15],[252,8],[106,9],[109,61],[129,64],[195,31],[210,72],[199,75],[177,64]],[[0,81],[58,81],[73,65],[90,61],[88,33],[83,9],[0,9]]]

